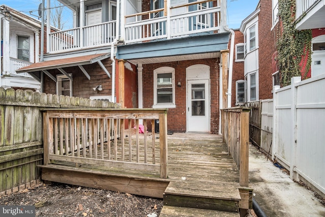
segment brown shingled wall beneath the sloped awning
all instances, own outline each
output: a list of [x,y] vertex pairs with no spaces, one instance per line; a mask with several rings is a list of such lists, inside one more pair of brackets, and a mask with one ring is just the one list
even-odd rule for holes
[[[106,69],[112,73],[112,61],[107,58],[102,60]],[[90,96],[111,96],[112,95],[112,79],[102,70],[98,63],[84,65],[85,70],[90,75],[90,80],[82,73],[79,67],[64,68],[67,73],[72,73],[73,78],[73,97],[89,98]],[[49,70],[56,77],[62,75],[57,69]],[[102,84],[102,91],[94,91],[92,88]],[[44,92],[47,94],[56,94],[56,83],[47,75],[44,75]]]

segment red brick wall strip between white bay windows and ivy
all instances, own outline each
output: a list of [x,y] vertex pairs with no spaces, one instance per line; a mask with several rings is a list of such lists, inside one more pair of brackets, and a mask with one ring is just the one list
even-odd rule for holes
[[272,28],[272,1],[261,0],[258,15],[259,100],[273,98],[272,74],[278,71],[276,64],[276,41],[279,22]]

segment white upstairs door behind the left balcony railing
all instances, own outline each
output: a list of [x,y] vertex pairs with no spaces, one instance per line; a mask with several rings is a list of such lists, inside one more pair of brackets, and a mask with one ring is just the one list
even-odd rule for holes
[[88,27],[85,30],[86,46],[102,44],[102,28],[99,25],[102,23],[102,9],[86,12],[86,25],[95,25]]

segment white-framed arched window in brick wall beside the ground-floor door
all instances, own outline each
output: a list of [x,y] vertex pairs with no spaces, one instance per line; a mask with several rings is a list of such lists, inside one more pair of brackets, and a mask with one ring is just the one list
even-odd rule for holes
[[175,108],[175,70],[161,67],[154,73],[153,108]]

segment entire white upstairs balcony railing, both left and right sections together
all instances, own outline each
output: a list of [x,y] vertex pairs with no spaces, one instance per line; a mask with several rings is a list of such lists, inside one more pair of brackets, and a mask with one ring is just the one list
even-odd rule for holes
[[[160,7],[156,6],[155,9],[150,6],[153,8],[150,11],[126,10],[130,14],[122,12],[119,22],[113,20],[50,33],[48,52],[53,54],[110,46],[117,36],[120,36],[125,44],[129,44],[186,37],[192,34],[214,34],[220,32],[220,26],[225,22],[224,0],[205,0],[187,4],[171,0],[159,2]],[[129,1],[121,4],[125,8],[131,8]],[[136,8],[141,8],[141,4],[145,4],[145,1],[138,4]],[[103,13],[110,12],[103,10]]]

